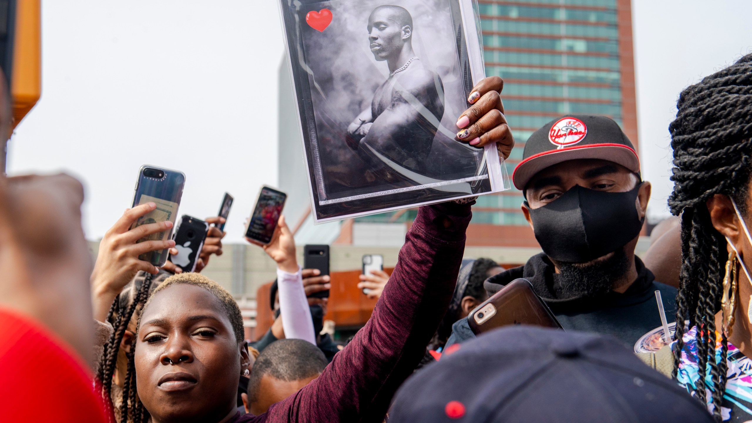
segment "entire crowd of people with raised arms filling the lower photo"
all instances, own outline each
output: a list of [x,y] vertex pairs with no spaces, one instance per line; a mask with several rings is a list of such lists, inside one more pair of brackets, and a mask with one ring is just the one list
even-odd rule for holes
[[[8,89],[0,87],[7,133]],[[472,132],[466,139],[478,138],[479,148],[496,142],[506,158],[514,138],[502,87],[498,77],[479,82],[458,129]],[[141,204],[108,230],[92,262],[79,182],[2,175],[3,418],[749,421],[750,99],[752,55],[681,93],[669,127],[669,206],[678,219],[660,229],[644,260],[635,246],[650,183],[632,142],[608,117],[547,123],[512,176],[541,254],[512,269],[463,259],[475,199],[422,206],[391,275],[361,276],[359,288],[378,302],[344,345],[323,330],[327,300],[311,297],[331,288],[329,276],[299,266],[284,217],[263,247],[277,263],[268,298],[274,323],[250,342],[232,295],[201,274],[222,254],[222,230],[208,230],[196,272],[169,262],[157,268],[139,256],[174,241],[138,241],[171,223],[132,229],[156,206]],[[557,143],[551,134],[563,120],[587,135]],[[564,330],[515,325],[476,336],[468,315],[517,278]],[[632,348],[662,324],[656,291],[679,324],[651,369]],[[672,360],[660,364],[659,356]]]

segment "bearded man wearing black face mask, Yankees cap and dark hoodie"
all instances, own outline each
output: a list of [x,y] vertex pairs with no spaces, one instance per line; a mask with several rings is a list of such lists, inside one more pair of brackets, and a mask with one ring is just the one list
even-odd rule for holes
[[[489,295],[526,278],[564,329],[613,335],[629,348],[661,325],[655,291],[666,315],[675,314],[676,289],[655,281],[635,256],[650,182],[641,180],[638,155],[614,120],[571,114],[550,121],[530,135],[513,180],[543,253],[488,278]],[[473,337],[460,319],[447,346]]]

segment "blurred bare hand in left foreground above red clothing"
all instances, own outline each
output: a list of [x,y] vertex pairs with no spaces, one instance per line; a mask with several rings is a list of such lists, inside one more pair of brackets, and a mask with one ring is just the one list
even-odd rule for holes
[[0,307],[40,321],[89,363],[92,257],[81,202],[83,187],[68,175],[0,175]]

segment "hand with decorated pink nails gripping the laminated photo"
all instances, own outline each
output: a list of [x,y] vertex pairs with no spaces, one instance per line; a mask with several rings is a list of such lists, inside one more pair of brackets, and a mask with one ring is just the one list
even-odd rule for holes
[[468,103],[472,104],[457,120],[456,139],[477,148],[496,142],[499,158],[506,159],[514,147],[504,116],[501,92],[504,81],[498,76],[483,78],[473,87]]

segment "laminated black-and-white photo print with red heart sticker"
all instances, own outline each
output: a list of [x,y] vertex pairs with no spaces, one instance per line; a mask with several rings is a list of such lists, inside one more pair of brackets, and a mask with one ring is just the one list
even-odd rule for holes
[[455,138],[484,78],[472,0],[277,1],[316,223],[510,187],[496,145]]

